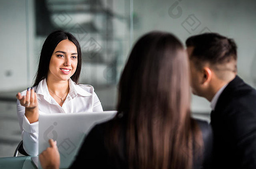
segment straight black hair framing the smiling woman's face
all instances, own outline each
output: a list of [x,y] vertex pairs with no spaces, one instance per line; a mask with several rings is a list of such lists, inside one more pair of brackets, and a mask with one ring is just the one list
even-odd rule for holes
[[55,50],[56,46],[60,43],[60,41],[65,39],[70,40],[71,42],[74,43],[74,45],[76,45],[78,62],[77,62],[76,71],[73,74],[73,76],[71,76],[71,79],[75,83],[78,83],[78,79],[81,72],[81,62],[82,62],[80,44],[78,40],[71,33],[64,32],[63,30],[57,30],[52,32],[44,41],[41,54],[40,54],[38,68],[37,68],[36,79],[34,81],[33,87],[37,86],[39,82],[42,81],[44,78],[47,78],[52,53]]

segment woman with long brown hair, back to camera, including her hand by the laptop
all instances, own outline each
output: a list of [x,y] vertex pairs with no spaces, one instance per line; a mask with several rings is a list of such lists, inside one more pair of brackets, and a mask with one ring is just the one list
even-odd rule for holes
[[[188,68],[187,54],[174,35],[141,37],[120,78],[117,115],[90,131],[71,168],[207,167],[212,131],[191,118]],[[54,168],[59,159],[50,142],[52,149],[39,157],[42,166]]]

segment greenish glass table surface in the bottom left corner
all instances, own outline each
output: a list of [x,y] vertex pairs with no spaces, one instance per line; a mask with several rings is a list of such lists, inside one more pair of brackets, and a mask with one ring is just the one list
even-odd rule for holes
[[31,156],[2,157],[0,169],[37,169],[30,158]]

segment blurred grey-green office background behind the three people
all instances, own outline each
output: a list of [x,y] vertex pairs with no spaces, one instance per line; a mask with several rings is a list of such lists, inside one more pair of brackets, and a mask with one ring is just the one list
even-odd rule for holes
[[[117,84],[133,43],[151,30],[218,32],[238,45],[238,74],[256,86],[255,0],[0,0],[0,157],[21,141],[16,93],[33,83],[42,44],[52,30],[78,38],[80,83],[94,86],[104,110],[115,110]],[[129,86],[127,86],[129,87]],[[209,102],[192,96],[193,116],[209,121]]]

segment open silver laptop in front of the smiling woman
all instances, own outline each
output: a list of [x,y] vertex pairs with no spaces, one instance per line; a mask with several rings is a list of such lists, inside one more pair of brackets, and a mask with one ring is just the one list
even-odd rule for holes
[[[117,111],[40,114],[39,154],[49,147],[49,139],[57,140],[60,168],[68,168],[91,128],[95,124],[112,119],[116,113]],[[31,157],[31,160],[37,168],[42,168],[38,156]]]

